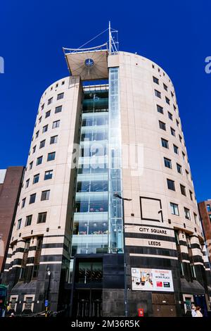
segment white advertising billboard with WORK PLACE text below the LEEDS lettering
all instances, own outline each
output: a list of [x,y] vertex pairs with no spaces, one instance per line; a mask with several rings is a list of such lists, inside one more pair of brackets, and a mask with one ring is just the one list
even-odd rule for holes
[[171,270],[132,268],[132,289],[174,292]]

